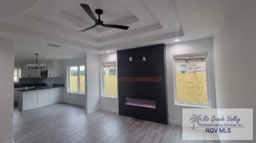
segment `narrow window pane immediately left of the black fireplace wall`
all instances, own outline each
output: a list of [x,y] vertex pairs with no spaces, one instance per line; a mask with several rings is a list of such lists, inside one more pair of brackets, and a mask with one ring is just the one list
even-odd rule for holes
[[116,63],[103,65],[103,96],[117,97]]

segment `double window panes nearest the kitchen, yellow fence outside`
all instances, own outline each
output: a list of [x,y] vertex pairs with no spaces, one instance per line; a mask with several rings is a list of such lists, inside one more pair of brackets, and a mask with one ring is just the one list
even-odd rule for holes
[[67,92],[85,94],[85,66],[68,67]]

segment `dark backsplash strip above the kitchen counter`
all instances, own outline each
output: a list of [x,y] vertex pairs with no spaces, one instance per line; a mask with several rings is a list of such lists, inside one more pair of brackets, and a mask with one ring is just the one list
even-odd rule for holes
[[46,83],[52,84],[64,84],[64,78],[20,78],[20,82],[17,84],[34,84],[34,83]]

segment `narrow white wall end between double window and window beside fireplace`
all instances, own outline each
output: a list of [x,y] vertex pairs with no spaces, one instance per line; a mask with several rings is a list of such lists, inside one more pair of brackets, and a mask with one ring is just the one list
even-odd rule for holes
[[100,109],[100,65],[99,55],[87,54],[87,100],[85,113]]

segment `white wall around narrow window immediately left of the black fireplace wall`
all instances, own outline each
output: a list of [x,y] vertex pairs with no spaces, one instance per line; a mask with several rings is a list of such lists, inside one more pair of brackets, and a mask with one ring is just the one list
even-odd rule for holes
[[[102,63],[106,62],[116,62],[117,60],[117,55],[116,53],[111,53],[111,54],[102,54],[100,55],[100,66],[102,70]],[[101,74],[102,76],[102,74]],[[101,77],[100,76],[100,77]],[[102,77],[101,77],[101,82],[102,82]],[[102,84],[102,83],[101,83]],[[101,89],[102,91],[102,89]],[[102,92],[101,92],[102,95]],[[103,110],[108,110],[111,112],[116,112],[118,113],[118,99],[114,97],[103,97],[101,96],[100,98],[100,105]]]

